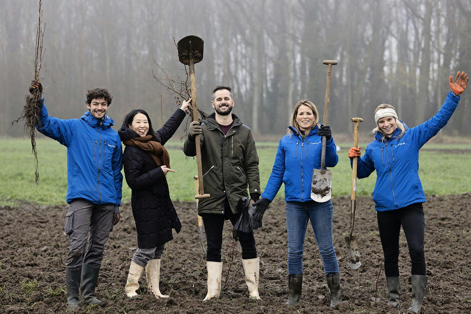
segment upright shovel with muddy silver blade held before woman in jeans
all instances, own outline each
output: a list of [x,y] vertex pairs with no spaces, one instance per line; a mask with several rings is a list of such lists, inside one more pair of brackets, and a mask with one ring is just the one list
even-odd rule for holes
[[[330,72],[332,65],[337,64],[335,60],[324,60],[327,64],[327,82],[325,84],[324,101],[324,125],[329,123],[329,100],[330,100]],[[322,137],[321,169],[312,170],[311,199],[324,203],[332,198],[332,171],[325,169],[325,145],[327,141]]]

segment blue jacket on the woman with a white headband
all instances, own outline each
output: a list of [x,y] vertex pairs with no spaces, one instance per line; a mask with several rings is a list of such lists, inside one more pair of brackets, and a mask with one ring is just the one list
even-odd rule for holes
[[[419,178],[419,149],[434,137],[450,119],[460,97],[449,92],[439,112],[429,121],[408,129],[400,138],[400,129],[383,142],[377,132],[375,139],[358,159],[357,177],[368,177],[376,170],[373,200],[377,211],[394,210],[414,203],[425,202]],[[402,121],[401,121],[402,122]]]

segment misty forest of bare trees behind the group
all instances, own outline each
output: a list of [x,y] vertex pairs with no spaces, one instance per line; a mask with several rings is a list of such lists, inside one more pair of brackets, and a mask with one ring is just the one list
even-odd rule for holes
[[[211,113],[216,85],[233,87],[237,114],[256,136],[282,135],[301,98],[324,108],[325,59],[333,66],[329,124],[350,132],[349,118],[374,127],[373,110],[394,105],[409,127],[429,119],[449,91],[448,76],[471,73],[470,0],[44,0],[43,85],[49,113],[78,118],[87,89],[106,87],[114,96],[115,129],[133,108],[160,126],[175,99],[153,78],[185,77],[176,41],[204,40],[195,65],[198,105]],[[32,79],[38,1],[0,5],[0,136],[20,116]],[[471,136],[471,91],[444,129]],[[23,135],[23,125],[7,136]],[[180,129],[180,132],[181,129]]]

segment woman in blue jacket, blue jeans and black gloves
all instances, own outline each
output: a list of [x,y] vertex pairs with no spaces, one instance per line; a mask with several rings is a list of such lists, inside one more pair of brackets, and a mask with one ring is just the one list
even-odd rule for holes
[[329,126],[318,123],[316,105],[299,101],[291,115],[288,134],[278,145],[275,164],[253,216],[261,219],[268,205],[284,183],[286,228],[288,231],[288,287],[286,304],[298,303],[302,287],[302,254],[308,220],[316,236],[329,286],[331,306],[340,302],[340,273],[332,241],[332,201],[318,203],[311,199],[312,169],[321,168],[321,137],[327,140],[325,166],[334,167],[339,158]]

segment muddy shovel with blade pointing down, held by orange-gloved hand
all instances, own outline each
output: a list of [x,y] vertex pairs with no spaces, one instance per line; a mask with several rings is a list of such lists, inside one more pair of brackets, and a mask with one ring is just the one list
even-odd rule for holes
[[[353,147],[358,146],[358,123],[363,122],[362,118],[351,118],[350,122],[355,122],[353,131]],[[345,236],[345,248],[349,257],[349,267],[357,270],[361,266],[360,251],[358,250],[357,237],[353,235],[353,227],[355,226],[355,210],[357,209],[357,160],[353,158],[352,165],[352,196],[350,200],[350,233]]]

